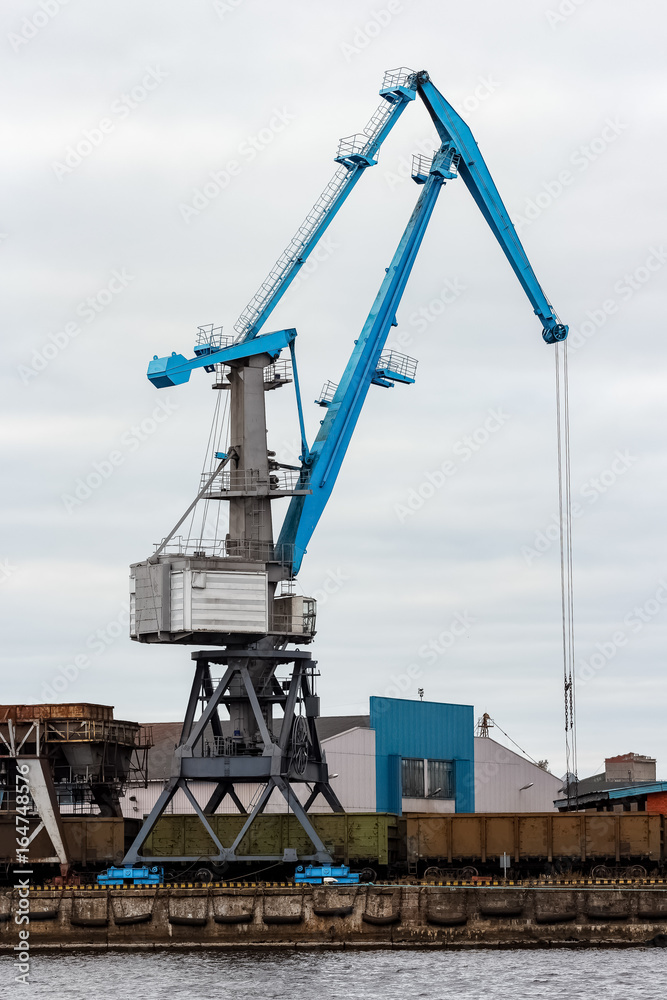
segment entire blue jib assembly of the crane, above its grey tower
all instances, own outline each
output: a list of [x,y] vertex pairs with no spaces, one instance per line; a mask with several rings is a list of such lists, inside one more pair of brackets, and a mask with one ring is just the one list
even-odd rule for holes
[[[319,433],[309,450],[305,445],[301,401],[297,392],[303,453],[299,488],[292,494],[278,539],[279,551],[293,551],[291,564],[295,575],[306,546],[315,530],[340,471],[345,453],[372,384],[391,387],[396,382],[414,382],[413,359],[390,352],[382,356],[389,330],[396,325],[396,313],[410,276],[438,194],[448,178],[460,176],[470,191],[503,253],[542,323],[542,336],[548,344],[565,340],[568,328],[562,324],[544,294],[526,252],[512,225],[507,209],[484,162],[475,138],[452,106],[433,86],[428,73],[401,68],[385,74],[380,90],[383,103],[371,117],[363,133],[342,139],[336,161],[339,167],[333,180],[299,227],[275,267],[246,306],[234,325],[236,339],[224,346],[204,337],[195,347],[190,361],[182,355],[158,358],[151,362],[148,377],[158,387],[186,382],[190,371],[203,367],[212,371],[215,364],[241,354],[266,353],[277,358],[284,346],[294,357],[296,331],[278,331],[259,337],[253,343],[290,283],[317,245],[331,220],[343,205],[366,167],[377,162],[380,146],[407,104],[419,94],[425,104],[442,145],[427,166],[419,158],[413,179],[423,184],[417,205],[403,233],[391,265],[368,314],[338,386],[331,398],[318,400],[327,409]],[[239,353],[240,352],[240,353]],[[397,360],[402,359],[402,360]]]

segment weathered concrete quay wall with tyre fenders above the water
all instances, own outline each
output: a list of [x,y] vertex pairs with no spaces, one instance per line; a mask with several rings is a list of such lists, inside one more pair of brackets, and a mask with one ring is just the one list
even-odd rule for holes
[[667,889],[436,885],[0,889],[0,951],[192,947],[667,946]]

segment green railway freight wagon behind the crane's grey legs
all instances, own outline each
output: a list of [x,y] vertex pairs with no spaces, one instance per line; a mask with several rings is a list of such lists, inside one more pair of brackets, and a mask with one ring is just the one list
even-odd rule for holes
[[[247,816],[221,813],[207,817],[222,844],[231,844]],[[313,813],[310,821],[337,862],[386,870],[402,854],[399,820],[391,813]],[[295,816],[263,813],[238,847],[239,854],[282,855],[286,848],[311,854],[310,843]],[[217,848],[197,816],[161,816],[142,848],[145,857],[205,857]],[[403,854],[404,856],[404,854]]]

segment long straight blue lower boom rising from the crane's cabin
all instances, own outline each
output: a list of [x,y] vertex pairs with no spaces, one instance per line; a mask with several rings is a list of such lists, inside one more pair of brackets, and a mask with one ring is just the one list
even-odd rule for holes
[[312,492],[307,496],[292,497],[285,515],[278,545],[288,543],[294,546],[292,570],[295,574],[333,489],[369,386],[373,382],[383,384],[377,375],[378,362],[389,330],[396,323],[396,310],[445,183],[440,170],[444,155],[441,150],[433,159],[431,173],[421,189],[338,388],[328,404],[308,460],[304,463],[302,475],[304,481],[306,476],[309,477]]

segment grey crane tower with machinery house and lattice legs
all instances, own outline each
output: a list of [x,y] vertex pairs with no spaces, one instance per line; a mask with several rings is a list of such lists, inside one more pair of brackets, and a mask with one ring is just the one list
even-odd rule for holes
[[[293,339],[296,331],[284,333]],[[230,445],[226,453],[217,453],[220,464],[204,476],[197,501],[229,503],[227,534],[191,544],[174,541],[183,518],[155,555],[131,568],[133,639],[221,648],[192,653],[195,675],[171,774],[126,864],[201,859],[139,853],[179,789],[215,845],[209,856],[213,863],[332,860],[307,815],[319,794],[332,810],[343,812],[317,734],[316,662],[309,652],[287,648],[312,641],[316,606],[312,598],[293,593],[292,553],[274,544],[271,516],[274,499],[310,491],[305,477],[277,462],[267,448],[265,392],[289,378],[283,370],[276,380],[279,349],[266,351],[266,342],[251,341],[245,356],[215,365],[214,388],[231,394]],[[195,350],[204,353],[207,346],[200,342]],[[283,581],[287,592],[277,592]],[[276,708],[282,716],[274,719]],[[227,718],[221,718],[220,709],[226,709]],[[201,782],[210,785],[207,801],[197,800],[191,782],[199,788]],[[239,794],[242,786],[250,786],[250,795]],[[299,796],[295,786],[307,792]],[[241,841],[274,792],[307,833],[311,853],[239,854]],[[212,816],[227,796],[246,819],[234,842],[224,845]]]

